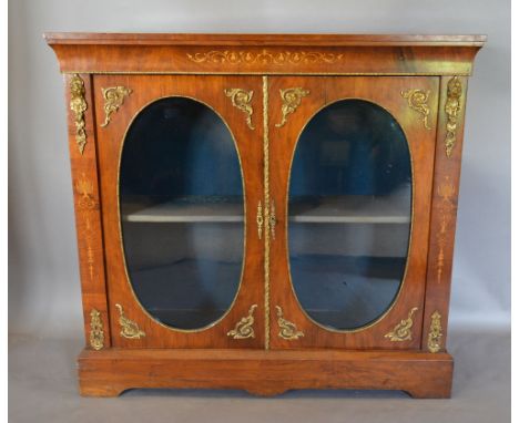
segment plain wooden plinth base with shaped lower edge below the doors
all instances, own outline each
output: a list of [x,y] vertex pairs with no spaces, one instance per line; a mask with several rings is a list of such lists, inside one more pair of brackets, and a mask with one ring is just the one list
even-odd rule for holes
[[83,351],[82,395],[131,388],[242,389],[276,395],[292,389],[403,390],[448,398],[452,358],[397,351],[119,350]]

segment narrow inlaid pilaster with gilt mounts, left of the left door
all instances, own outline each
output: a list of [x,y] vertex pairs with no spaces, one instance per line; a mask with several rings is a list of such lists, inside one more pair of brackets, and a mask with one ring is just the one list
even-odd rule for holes
[[111,345],[91,75],[64,76],[86,348]]

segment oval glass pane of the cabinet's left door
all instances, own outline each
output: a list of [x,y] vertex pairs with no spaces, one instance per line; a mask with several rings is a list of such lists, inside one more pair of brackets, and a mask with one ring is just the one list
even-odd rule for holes
[[244,199],[222,118],[186,97],[144,107],[122,149],[120,210],[130,282],[147,313],[181,330],[223,318],[241,282]]

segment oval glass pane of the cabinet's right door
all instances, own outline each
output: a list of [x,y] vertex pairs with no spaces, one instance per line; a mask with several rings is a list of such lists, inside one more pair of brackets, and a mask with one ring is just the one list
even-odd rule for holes
[[297,299],[316,323],[355,330],[389,309],[404,279],[411,162],[380,106],[343,100],[305,126],[292,163],[288,245]]

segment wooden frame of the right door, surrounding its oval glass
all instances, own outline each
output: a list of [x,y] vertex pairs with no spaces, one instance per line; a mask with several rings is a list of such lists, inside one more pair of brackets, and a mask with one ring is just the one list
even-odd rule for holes
[[[271,138],[271,198],[276,205],[276,236],[271,244],[271,344],[272,348],[347,348],[347,349],[419,349],[424,312],[427,246],[429,239],[430,187],[432,184],[436,141],[436,111],[438,78],[269,78],[272,110]],[[281,91],[303,87],[309,93],[302,99],[295,112],[283,121]],[[428,93],[424,114],[413,109],[401,94],[408,90]],[[413,162],[413,218],[407,268],[399,293],[388,310],[366,327],[355,330],[329,330],[316,324],[303,310],[291,282],[287,241],[287,193],[291,161],[304,125],[326,104],[343,99],[362,99],[386,109],[406,134]],[[424,109],[423,109],[424,110]],[[276,306],[283,309],[283,319],[276,316]],[[413,311],[415,310],[415,311]],[[410,313],[413,316],[410,317]],[[294,339],[284,338],[282,326],[295,324],[302,332]],[[406,329],[407,328],[407,329]],[[388,336],[403,330],[399,339]],[[286,333],[285,333],[286,334]]]

